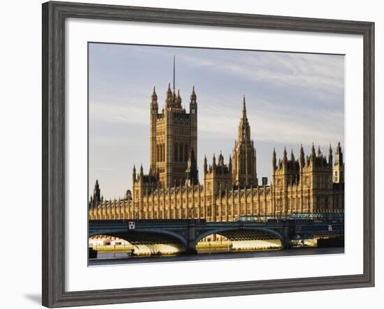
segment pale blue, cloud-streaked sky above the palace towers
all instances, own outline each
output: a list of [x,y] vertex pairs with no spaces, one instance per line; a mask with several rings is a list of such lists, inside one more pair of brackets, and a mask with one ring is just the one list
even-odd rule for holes
[[198,102],[198,167],[222,152],[228,163],[243,96],[256,146],[258,179],[272,174],[272,151],[283,156],[312,143],[325,155],[344,148],[344,56],[89,43],[89,194],[124,196],[133,165],[149,169],[149,104],[156,86],[159,111],[168,82],[189,112]]

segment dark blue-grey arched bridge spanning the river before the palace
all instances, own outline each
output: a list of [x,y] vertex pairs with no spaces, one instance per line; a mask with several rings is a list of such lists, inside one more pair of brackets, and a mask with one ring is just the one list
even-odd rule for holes
[[[344,234],[344,213],[292,213],[289,216],[239,216],[232,222],[205,220],[90,220],[89,237],[116,236],[128,242],[152,239],[172,239],[181,243],[186,252],[195,253],[197,243],[212,234],[234,240],[242,234],[256,238],[279,239],[284,248],[292,240],[322,238]],[[148,237],[147,237],[148,238]]]

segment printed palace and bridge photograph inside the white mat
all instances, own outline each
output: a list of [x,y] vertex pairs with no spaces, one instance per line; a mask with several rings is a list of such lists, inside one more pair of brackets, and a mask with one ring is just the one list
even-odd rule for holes
[[344,254],[344,54],[87,50],[89,266]]

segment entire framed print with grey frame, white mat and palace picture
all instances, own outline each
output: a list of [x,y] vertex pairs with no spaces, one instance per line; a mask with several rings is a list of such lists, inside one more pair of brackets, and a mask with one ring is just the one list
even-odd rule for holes
[[44,306],[371,286],[374,23],[43,4]]

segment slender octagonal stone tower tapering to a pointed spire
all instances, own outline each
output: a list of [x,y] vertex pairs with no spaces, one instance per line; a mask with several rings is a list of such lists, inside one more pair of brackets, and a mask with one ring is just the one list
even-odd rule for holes
[[245,96],[242,119],[240,119],[237,140],[232,155],[232,179],[235,186],[258,186],[256,174],[256,149],[251,140],[251,127],[246,118]]

